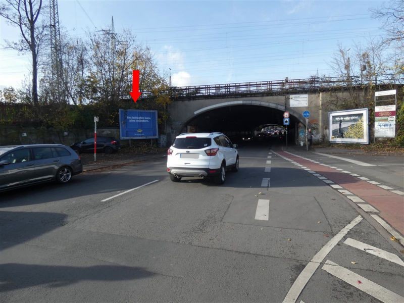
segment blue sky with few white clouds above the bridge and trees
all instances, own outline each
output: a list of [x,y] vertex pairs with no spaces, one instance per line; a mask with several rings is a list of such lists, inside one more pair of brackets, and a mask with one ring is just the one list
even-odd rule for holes
[[[45,0],[46,2],[46,0]],[[60,0],[71,36],[130,28],[176,86],[308,78],[332,74],[342,44],[383,35],[370,8],[382,1],[84,1]],[[0,19],[1,44],[18,30]],[[29,56],[0,50],[0,87],[21,86]],[[141,71],[140,71],[141,72]]]

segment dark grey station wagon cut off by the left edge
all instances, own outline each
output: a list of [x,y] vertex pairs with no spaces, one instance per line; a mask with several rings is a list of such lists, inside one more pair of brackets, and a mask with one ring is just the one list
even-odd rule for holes
[[65,145],[0,146],[0,191],[54,180],[68,183],[82,171],[80,157]]

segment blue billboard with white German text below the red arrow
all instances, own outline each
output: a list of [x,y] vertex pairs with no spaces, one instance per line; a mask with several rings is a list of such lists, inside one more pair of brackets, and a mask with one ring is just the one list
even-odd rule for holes
[[119,110],[121,139],[157,139],[157,111]]

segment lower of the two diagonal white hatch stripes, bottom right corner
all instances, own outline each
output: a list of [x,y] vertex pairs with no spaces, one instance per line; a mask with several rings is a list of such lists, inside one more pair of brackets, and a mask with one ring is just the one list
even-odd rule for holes
[[[382,302],[403,302],[404,297],[372,282],[371,280],[366,279],[346,268],[339,266],[338,264],[331,262],[329,260],[326,261],[326,264],[321,268],[331,275],[341,279],[342,281],[366,292],[367,294],[379,299]],[[361,281],[359,283],[358,281]]]

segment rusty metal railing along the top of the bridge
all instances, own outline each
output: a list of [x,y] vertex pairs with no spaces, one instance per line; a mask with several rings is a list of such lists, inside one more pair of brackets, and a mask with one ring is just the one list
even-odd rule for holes
[[[349,81],[346,78],[340,77],[312,77],[306,79],[284,79],[274,81],[260,82],[242,82],[242,83],[225,83],[211,85],[196,85],[172,87],[168,93],[172,96],[187,97],[187,96],[218,96],[218,95],[237,95],[249,93],[265,93],[265,92],[288,92],[288,91],[307,91],[327,89],[332,87],[347,87],[347,86],[367,86],[370,82],[379,85],[391,84],[392,75],[377,75],[374,79],[363,79],[361,76],[351,77]],[[402,76],[402,75],[401,75]],[[403,84],[404,77],[395,78],[394,84]],[[142,97],[147,97],[150,94],[145,91]]]

